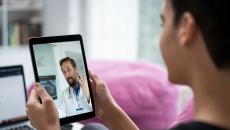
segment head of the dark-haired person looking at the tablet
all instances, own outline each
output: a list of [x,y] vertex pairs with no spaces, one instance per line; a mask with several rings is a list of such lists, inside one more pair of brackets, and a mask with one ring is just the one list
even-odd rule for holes
[[169,79],[187,84],[193,68],[230,69],[229,2],[165,0],[161,51]]

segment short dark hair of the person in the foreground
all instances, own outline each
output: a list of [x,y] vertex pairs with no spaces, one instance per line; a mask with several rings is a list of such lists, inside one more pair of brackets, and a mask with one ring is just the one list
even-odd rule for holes
[[200,28],[217,68],[230,68],[229,0],[171,0],[175,26],[189,12]]

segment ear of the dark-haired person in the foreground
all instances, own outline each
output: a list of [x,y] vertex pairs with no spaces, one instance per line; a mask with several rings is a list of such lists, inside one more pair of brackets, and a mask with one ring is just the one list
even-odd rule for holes
[[195,38],[195,20],[191,13],[185,12],[178,25],[178,39],[181,46],[191,45]]

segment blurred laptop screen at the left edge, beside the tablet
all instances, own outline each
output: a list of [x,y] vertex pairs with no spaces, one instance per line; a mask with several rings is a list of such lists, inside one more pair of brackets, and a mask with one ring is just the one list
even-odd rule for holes
[[22,66],[0,67],[0,125],[27,119],[26,98]]

